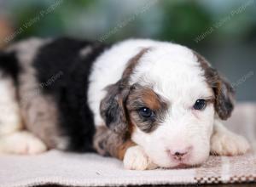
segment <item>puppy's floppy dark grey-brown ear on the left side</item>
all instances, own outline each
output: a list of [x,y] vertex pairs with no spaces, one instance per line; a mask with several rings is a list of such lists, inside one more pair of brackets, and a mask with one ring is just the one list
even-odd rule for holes
[[128,130],[125,100],[129,90],[117,82],[108,86],[107,91],[100,107],[102,118],[114,133],[125,133]]

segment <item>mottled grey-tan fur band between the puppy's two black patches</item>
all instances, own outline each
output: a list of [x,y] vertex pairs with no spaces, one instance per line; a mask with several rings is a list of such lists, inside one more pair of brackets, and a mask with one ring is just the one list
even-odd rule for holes
[[60,129],[56,126],[58,111],[54,99],[42,93],[40,83],[43,82],[38,83],[35,77],[37,71],[32,65],[39,48],[49,42],[51,39],[33,37],[16,43],[9,50],[15,49],[22,65],[19,75],[19,96],[20,112],[26,129],[43,139],[50,147],[64,150],[67,148],[68,140],[67,137],[61,136]]

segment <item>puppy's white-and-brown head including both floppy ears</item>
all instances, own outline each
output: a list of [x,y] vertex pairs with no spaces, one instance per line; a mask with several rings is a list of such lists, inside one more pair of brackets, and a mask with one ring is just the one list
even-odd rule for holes
[[214,119],[230,116],[232,97],[230,84],[200,54],[161,43],[128,62],[108,87],[101,113],[160,167],[193,166],[207,160]]

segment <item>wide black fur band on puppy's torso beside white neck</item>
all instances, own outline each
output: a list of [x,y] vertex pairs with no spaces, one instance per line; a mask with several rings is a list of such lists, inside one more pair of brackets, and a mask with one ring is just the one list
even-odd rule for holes
[[[93,50],[82,57],[79,51],[86,47]],[[55,98],[61,133],[69,138],[68,150],[92,150],[95,126],[87,105],[88,78],[91,65],[105,48],[99,43],[60,38],[40,48],[34,61],[44,94]],[[59,76],[54,82],[44,84],[55,75]]]

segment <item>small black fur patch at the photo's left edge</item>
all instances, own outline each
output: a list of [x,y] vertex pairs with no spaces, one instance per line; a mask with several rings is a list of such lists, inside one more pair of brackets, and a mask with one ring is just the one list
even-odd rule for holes
[[18,75],[21,69],[14,52],[0,52],[0,69],[3,71],[3,76],[12,77],[15,85],[18,85]]

